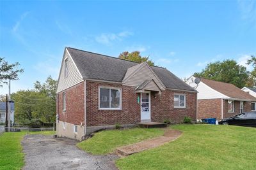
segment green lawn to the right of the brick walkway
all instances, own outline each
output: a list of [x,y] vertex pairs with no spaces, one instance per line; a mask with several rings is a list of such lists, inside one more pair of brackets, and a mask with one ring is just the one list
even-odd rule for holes
[[256,169],[256,129],[174,125],[179,139],[116,160],[119,169]]

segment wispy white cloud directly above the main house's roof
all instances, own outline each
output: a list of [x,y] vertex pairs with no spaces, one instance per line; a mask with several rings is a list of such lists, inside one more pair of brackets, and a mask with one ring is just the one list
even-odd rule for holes
[[115,33],[102,33],[99,36],[95,37],[95,41],[104,45],[111,45],[113,41],[122,41],[123,38],[132,36],[133,33],[129,31]]

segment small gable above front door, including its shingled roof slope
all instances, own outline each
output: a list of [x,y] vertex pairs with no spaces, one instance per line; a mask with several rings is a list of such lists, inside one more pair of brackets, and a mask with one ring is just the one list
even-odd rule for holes
[[154,80],[160,90],[165,89],[163,82],[158,78],[147,62],[143,62],[138,64],[138,66],[136,65],[136,67],[133,66],[127,69],[127,74],[125,74],[123,84],[138,87],[146,80]]

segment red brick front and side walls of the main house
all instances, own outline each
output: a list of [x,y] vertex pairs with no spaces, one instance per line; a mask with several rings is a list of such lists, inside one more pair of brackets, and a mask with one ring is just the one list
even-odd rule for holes
[[[118,87],[122,89],[122,110],[99,110],[99,87]],[[136,124],[140,122],[140,103],[135,87],[113,83],[86,81],[86,125]],[[66,111],[63,111],[63,92],[66,92]],[[58,93],[57,113],[63,122],[80,125],[84,123],[84,82]],[[186,108],[174,108],[174,94],[186,94]],[[182,122],[184,117],[196,120],[196,93],[163,90],[161,94],[151,93],[151,120],[163,122]]]

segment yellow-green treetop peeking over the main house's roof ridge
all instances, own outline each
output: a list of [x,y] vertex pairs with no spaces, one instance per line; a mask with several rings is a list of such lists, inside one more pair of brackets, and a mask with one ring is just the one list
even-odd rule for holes
[[122,52],[118,56],[119,59],[125,59],[125,60],[131,60],[134,62],[147,62],[150,66],[155,66],[155,63],[152,62],[152,60],[149,59],[148,57],[142,57],[139,51],[134,51],[134,52]]

